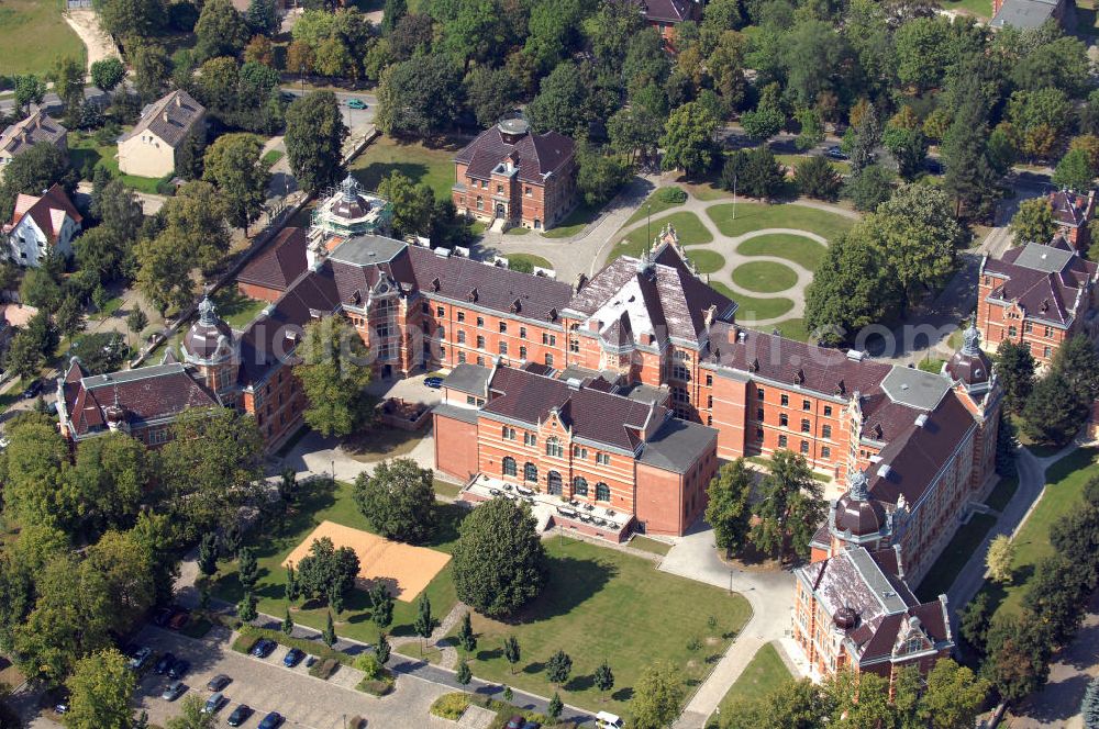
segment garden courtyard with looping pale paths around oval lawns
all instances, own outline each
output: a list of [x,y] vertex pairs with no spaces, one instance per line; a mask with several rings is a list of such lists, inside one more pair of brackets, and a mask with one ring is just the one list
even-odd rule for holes
[[808,339],[806,289],[829,242],[857,215],[833,205],[733,203],[731,195],[698,186],[687,186],[687,200],[676,203],[660,195],[663,189],[619,232],[608,260],[641,256],[670,225],[698,272],[740,304],[739,322]]

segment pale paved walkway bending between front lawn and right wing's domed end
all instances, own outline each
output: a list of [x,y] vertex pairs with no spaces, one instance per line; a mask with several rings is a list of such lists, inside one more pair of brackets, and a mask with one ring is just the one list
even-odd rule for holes
[[765,643],[779,641],[788,654],[792,620],[793,576],[787,572],[746,572],[718,557],[713,530],[697,524],[664,558],[659,569],[690,580],[740,593],[752,606],[752,617],[732,646],[688,702],[675,729],[701,729],[744,668]]

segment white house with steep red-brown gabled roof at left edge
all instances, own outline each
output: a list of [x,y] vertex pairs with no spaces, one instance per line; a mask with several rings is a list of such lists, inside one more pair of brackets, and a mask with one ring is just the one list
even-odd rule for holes
[[3,226],[8,256],[32,268],[37,268],[51,250],[67,258],[82,220],[60,184],[55,183],[38,197],[20,194],[11,223]]

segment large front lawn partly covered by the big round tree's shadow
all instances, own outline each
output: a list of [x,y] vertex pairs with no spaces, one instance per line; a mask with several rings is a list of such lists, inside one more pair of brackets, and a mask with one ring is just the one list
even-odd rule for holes
[[[641,557],[571,539],[552,538],[545,546],[548,582],[534,603],[509,623],[474,615],[474,675],[547,696],[554,686],[545,661],[563,650],[573,671],[562,699],[624,714],[645,666],[669,661],[684,681],[697,685],[752,612],[741,595],[659,572]],[[710,616],[717,619],[712,628]],[[518,639],[522,654],[514,674],[503,658],[508,636]],[[606,697],[592,678],[603,660],[615,678]]]

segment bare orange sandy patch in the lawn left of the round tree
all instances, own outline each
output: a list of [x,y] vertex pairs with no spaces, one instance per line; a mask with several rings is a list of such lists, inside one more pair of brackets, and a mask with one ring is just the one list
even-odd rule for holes
[[287,554],[282,560],[282,567],[301,561],[309,554],[313,541],[321,537],[331,539],[336,549],[351,547],[355,550],[359,564],[359,587],[369,590],[376,582],[381,581],[389,586],[389,594],[404,603],[414,601],[428,583],[434,580],[451,561],[451,556],[445,552],[390,541],[369,531],[345,527],[335,521],[321,521],[300,545],[293,548],[293,551]]

